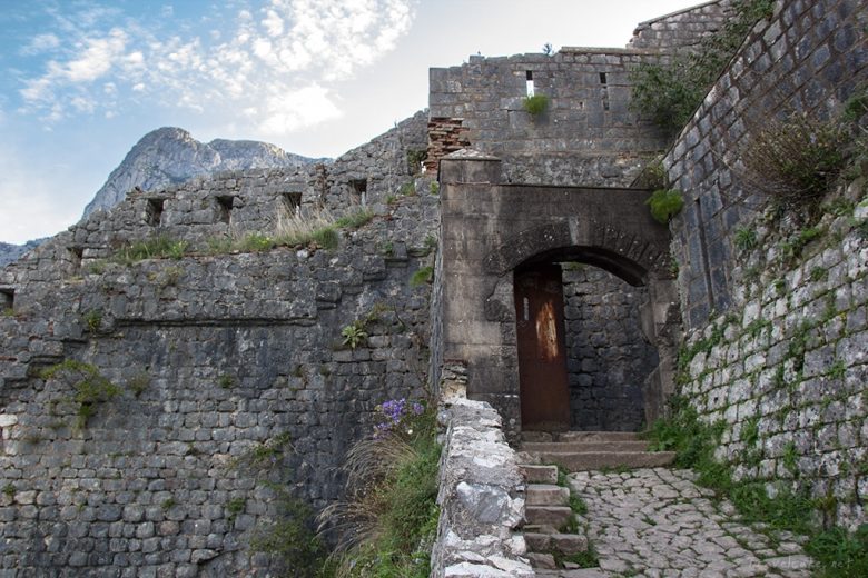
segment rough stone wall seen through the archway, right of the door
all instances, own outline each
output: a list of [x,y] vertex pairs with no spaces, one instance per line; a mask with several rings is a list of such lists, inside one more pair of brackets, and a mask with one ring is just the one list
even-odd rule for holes
[[602,269],[568,263],[563,292],[572,429],[640,430],[642,391],[658,365],[640,323],[648,290]]

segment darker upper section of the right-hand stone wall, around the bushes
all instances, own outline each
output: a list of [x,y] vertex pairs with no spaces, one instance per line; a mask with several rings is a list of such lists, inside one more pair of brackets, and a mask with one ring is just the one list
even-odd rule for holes
[[732,233],[761,201],[731,169],[739,148],[767,118],[828,116],[866,82],[866,13],[864,0],[777,2],[667,155],[685,201],[672,230],[687,328],[732,303]]

